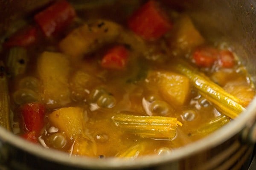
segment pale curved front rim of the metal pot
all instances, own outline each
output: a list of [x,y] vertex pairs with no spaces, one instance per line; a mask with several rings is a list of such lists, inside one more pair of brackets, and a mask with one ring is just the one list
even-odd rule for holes
[[48,150],[40,145],[32,144],[13,133],[10,133],[3,127],[0,127],[0,139],[3,143],[12,144],[21,150],[24,150],[39,158],[52,161],[59,164],[68,164],[74,167],[90,167],[90,168],[131,168],[131,167],[147,167],[155,164],[165,162],[174,162],[178,159],[191,156],[192,154],[199,153],[203,150],[216,147],[217,145],[230,139],[232,136],[238,134],[244,127],[251,125],[255,122],[256,117],[256,98],[247,107],[247,111],[241,113],[236,119],[228,123],[219,130],[209,136],[200,139],[191,144],[187,144],[181,148],[172,150],[172,155],[151,155],[142,156],[134,160],[119,159],[119,158],[106,158],[97,159],[89,157],[70,156],[58,150]]

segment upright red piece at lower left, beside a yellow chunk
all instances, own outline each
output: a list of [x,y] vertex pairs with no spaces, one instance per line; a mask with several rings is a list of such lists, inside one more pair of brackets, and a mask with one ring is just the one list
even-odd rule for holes
[[21,106],[25,130],[39,134],[44,127],[45,106],[40,102],[27,103]]

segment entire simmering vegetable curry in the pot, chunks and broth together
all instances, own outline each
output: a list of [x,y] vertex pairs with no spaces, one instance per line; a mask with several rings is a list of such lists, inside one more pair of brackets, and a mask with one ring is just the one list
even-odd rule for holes
[[77,156],[168,154],[255,95],[226,43],[158,1],[56,1],[3,42],[15,134]]

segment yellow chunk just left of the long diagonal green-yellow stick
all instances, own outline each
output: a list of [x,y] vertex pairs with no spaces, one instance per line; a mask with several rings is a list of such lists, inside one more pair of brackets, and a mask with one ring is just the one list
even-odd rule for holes
[[183,105],[190,93],[189,79],[181,74],[167,71],[153,71],[149,79],[157,83],[162,96],[174,105]]

